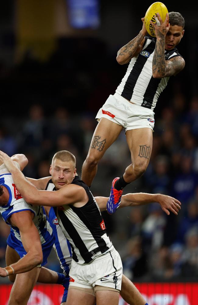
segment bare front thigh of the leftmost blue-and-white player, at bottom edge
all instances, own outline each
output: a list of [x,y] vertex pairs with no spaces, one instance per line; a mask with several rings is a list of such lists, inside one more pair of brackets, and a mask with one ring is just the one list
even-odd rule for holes
[[17,302],[19,301],[21,305],[26,304],[30,298],[34,285],[37,282],[40,271],[41,268],[35,267],[28,272],[16,274],[16,279],[10,292],[8,305],[14,304],[12,302],[18,304]]

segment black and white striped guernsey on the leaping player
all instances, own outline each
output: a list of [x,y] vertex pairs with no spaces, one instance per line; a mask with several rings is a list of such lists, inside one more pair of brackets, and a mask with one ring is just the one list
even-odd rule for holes
[[[145,37],[142,52],[131,59],[126,74],[116,89],[116,92],[125,99],[152,110],[169,80],[169,77],[154,78],[152,76],[155,45],[156,38]],[[165,50],[165,60],[175,56],[181,56],[177,48]]]

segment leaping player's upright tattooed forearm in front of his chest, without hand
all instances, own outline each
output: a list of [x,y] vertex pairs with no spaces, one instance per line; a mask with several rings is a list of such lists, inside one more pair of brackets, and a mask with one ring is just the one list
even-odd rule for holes
[[160,38],[157,38],[153,56],[152,70],[154,78],[162,78],[166,75],[166,60],[164,50],[165,36],[161,34]]

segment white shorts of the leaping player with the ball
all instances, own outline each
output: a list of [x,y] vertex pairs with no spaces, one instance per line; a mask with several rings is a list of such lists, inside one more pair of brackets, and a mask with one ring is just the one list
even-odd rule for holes
[[98,111],[96,119],[99,122],[104,117],[123,126],[125,131],[145,127],[153,131],[154,114],[153,110],[132,104],[118,93],[115,93],[114,95],[109,95]]

